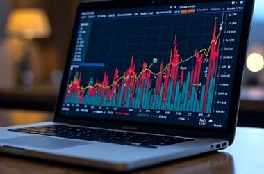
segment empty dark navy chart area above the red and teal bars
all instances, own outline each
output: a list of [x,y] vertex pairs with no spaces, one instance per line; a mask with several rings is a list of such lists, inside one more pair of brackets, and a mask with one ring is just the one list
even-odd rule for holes
[[[134,56],[135,72],[141,72],[140,65],[144,61],[150,65],[153,58],[158,58],[158,63],[154,64],[151,70],[159,72],[160,63],[165,64],[169,61],[175,35],[177,48],[183,59],[194,55],[195,49],[197,51],[208,49],[215,19],[219,27],[222,13],[93,21],[85,63],[105,63],[105,67],[98,72],[86,70],[88,73],[83,73],[82,84],[88,84],[90,77],[101,80],[105,70],[109,80],[112,80],[117,67],[119,74],[122,75],[129,68],[131,56]],[[192,58],[182,65],[192,70],[194,63],[195,58]]]

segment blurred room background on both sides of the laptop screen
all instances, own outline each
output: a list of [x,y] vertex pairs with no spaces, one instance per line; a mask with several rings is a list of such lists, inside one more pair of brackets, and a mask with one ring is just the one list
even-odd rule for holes
[[[264,122],[264,1],[255,1],[238,123],[258,126]],[[0,0],[1,108],[53,111],[80,2]]]

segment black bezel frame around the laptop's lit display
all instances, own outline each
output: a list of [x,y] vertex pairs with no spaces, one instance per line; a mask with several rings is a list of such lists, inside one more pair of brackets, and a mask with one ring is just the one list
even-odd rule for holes
[[[226,1],[226,0],[221,0]],[[229,0],[230,1],[230,0]],[[201,2],[217,2],[199,0]],[[229,141],[229,145],[233,143],[234,133],[236,130],[236,122],[238,118],[238,106],[240,98],[240,88],[242,84],[242,72],[245,64],[245,55],[247,50],[247,42],[249,35],[249,26],[251,24],[251,16],[253,11],[254,0],[245,0],[245,11],[242,20],[242,30],[240,33],[240,43],[238,50],[238,58],[243,58],[242,61],[236,62],[236,70],[233,78],[233,87],[231,89],[231,102],[229,106],[229,114],[227,120],[226,129],[213,129],[208,127],[188,127],[183,125],[164,125],[152,122],[135,122],[124,120],[106,120],[103,118],[83,118],[76,116],[65,116],[60,114],[60,109],[63,104],[65,90],[67,89],[67,81],[69,76],[70,64],[72,61],[72,53],[76,41],[76,31],[79,26],[79,19],[81,12],[84,10],[102,10],[107,8],[133,8],[142,6],[156,6],[156,5],[170,5],[170,4],[188,4],[197,3],[195,0],[147,0],[147,1],[104,1],[104,2],[92,2],[81,3],[76,11],[76,18],[74,22],[74,28],[72,30],[72,39],[69,44],[69,51],[67,54],[67,61],[65,70],[63,73],[62,85],[60,86],[60,93],[56,104],[56,111],[53,121],[62,122],[71,125],[82,125],[88,127],[104,127],[107,129],[124,129],[124,127],[133,129],[138,132],[149,132],[154,134],[168,134],[176,136],[192,136],[192,137],[212,137],[218,139],[226,139]]]

